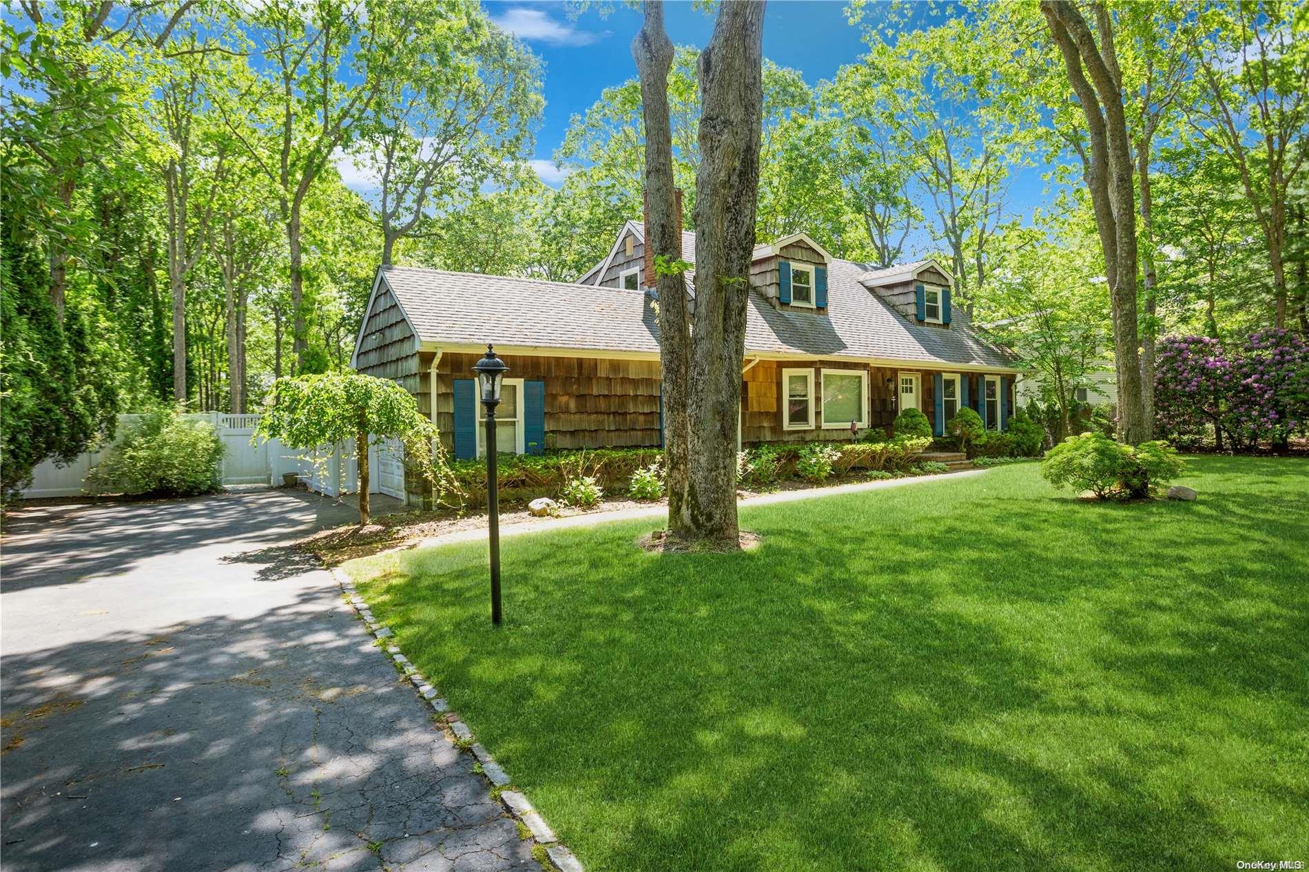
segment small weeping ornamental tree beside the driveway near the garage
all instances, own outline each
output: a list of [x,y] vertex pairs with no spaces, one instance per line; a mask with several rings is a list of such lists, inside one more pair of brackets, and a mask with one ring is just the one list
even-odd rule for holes
[[398,439],[433,488],[448,483],[436,426],[394,381],[356,373],[279,378],[255,437],[312,449],[352,440],[359,461],[359,525],[368,524],[368,446]]

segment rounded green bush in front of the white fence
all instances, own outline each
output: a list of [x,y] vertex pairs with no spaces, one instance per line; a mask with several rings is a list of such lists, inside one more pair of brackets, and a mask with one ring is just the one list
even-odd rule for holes
[[223,490],[223,440],[171,406],[145,414],[86,475],[92,494],[192,496]]

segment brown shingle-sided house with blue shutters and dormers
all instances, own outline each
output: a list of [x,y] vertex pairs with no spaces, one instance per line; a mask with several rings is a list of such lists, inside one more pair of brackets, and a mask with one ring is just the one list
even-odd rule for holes
[[[509,365],[503,452],[662,444],[658,323],[641,224],[576,283],[382,267],[351,365],[415,395],[458,458],[486,450],[473,364]],[[695,234],[681,257],[695,261]],[[694,271],[687,284],[694,295]],[[750,267],[738,441],[848,440],[920,409],[937,433],[959,406],[991,428],[1013,411],[1013,359],[950,305],[932,261],[886,270],[840,261],[804,233],[761,245]],[[692,296],[694,305],[694,296]]]

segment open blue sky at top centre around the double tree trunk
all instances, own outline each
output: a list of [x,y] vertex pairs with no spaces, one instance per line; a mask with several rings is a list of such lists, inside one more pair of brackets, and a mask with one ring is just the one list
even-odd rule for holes
[[[571,20],[563,3],[486,3],[501,27],[517,33],[546,64],[546,113],[537,135],[537,172],[558,185],[548,166],[563,141],[568,118],[585,113],[605,88],[636,76],[632,38],[641,16],[620,0],[610,14],[588,10]],[[668,3],[665,26],[677,45],[704,46],[713,31],[713,17],[690,3]],[[838,67],[863,52],[860,29],[846,20],[846,3],[772,0],[763,24],[763,52],[774,63],[804,73],[810,85],[830,79]]]

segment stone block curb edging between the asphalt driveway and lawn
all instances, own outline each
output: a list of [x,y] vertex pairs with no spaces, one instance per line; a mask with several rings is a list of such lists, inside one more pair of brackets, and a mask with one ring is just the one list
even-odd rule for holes
[[[377,622],[373,611],[368,608],[368,602],[355,589],[353,581],[346,579],[335,567],[330,567],[327,571],[346,594],[347,602],[350,602],[351,608],[368,627],[369,634],[378,640],[390,639],[395,635],[394,630]],[[504,767],[496,762],[495,757],[480,742],[475,741],[469,725],[450,711],[450,704],[445,702],[445,698],[441,697],[436,687],[423,678],[423,674],[404,656],[399,647],[394,643],[386,643],[384,652],[401,673],[408,678],[423,700],[432,707],[432,711],[441,716],[441,723],[454,736],[456,748],[469,750],[473,754],[482,766],[482,774],[486,775],[487,780],[496,788],[512,786],[513,779],[504,771]],[[577,856],[559,842],[559,837],[555,835],[555,831],[550,829],[550,825],[546,824],[545,818],[541,817],[541,813],[522,792],[513,790],[501,791],[500,804],[509,812],[511,817],[528,827],[533,841],[546,850],[546,856],[550,858],[550,863],[559,872],[583,872],[583,865]]]

